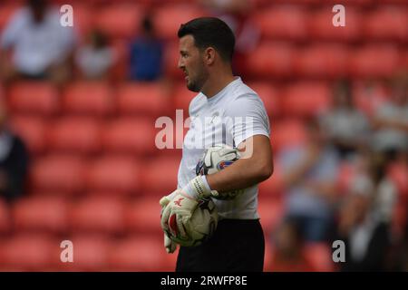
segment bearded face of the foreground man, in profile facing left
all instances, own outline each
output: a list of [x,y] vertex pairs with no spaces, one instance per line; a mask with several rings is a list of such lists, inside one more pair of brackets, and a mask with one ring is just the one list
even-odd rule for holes
[[199,92],[207,81],[209,73],[203,63],[199,48],[194,45],[194,37],[192,35],[181,37],[179,48],[179,68],[186,76],[187,88],[189,91]]

